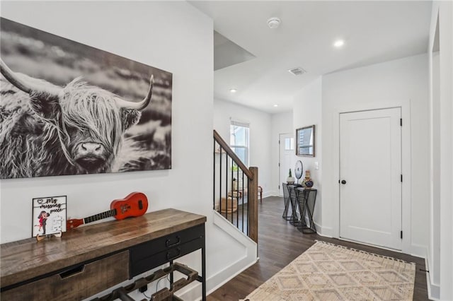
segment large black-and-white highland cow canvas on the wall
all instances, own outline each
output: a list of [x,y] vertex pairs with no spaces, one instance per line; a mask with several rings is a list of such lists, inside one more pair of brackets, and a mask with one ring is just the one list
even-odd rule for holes
[[1,179],[171,168],[171,73],[0,21]]

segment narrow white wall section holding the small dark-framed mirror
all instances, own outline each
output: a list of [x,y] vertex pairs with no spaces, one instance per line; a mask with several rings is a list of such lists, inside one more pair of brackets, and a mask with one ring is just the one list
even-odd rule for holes
[[[294,133],[296,129],[304,126],[315,125],[315,156],[314,157],[298,157],[294,156],[294,163],[296,160],[301,160],[304,166],[304,172],[310,170],[311,179],[314,182],[314,188],[318,189],[316,194],[316,204],[314,208],[314,223],[316,223],[316,230],[321,235],[324,235],[326,230],[323,229],[325,223],[322,221],[322,208],[323,203],[323,185],[322,185],[322,153],[323,153],[323,125],[321,122],[322,117],[322,78],[319,77],[315,81],[306,85],[297,95],[294,96],[293,102],[293,128]],[[296,138],[296,137],[294,137]],[[319,170],[316,170],[315,163],[319,165]],[[305,177],[305,175],[302,175]],[[326,223],[327,225],[329,223]],[[330,233],[329,233],[330,234]]]

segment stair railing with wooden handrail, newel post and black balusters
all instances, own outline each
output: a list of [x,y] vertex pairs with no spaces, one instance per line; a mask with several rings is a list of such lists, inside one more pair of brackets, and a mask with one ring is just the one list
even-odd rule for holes
[[214,130],[213,209],[258,243],[258,167],[247,168]]

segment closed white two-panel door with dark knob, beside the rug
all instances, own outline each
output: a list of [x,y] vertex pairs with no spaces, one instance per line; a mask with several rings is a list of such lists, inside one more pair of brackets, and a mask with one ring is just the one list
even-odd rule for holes
[[401,108],[340,114],[340,237],[401,250]]

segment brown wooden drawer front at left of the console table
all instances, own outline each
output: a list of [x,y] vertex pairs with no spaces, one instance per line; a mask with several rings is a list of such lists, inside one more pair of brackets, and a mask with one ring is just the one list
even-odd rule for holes
[[125,251],[6,290],[1,300],[82,300],[128,278],[129,252]]

